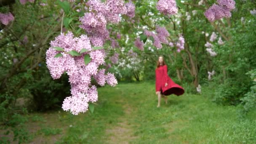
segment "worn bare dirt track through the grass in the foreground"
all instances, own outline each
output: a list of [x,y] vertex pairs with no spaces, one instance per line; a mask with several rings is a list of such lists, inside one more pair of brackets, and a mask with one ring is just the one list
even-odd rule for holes
[[128,123],[129,119],[133,116],[133,109],[128,104],[124,104],[123,107],[124,117],[118,119],[119,122],[116,126],[106,130],[108,136],[107,143],[109,144],[128,144],[129,141],[136,139],[132,128],[133,125]]

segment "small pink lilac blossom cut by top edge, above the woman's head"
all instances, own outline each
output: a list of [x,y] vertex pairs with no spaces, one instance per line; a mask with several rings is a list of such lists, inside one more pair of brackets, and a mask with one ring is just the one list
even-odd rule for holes
[[178,13],[178,8],[176,6],[175,0],[159,0],[157,2],[157,10],[164,15],[173,15]]

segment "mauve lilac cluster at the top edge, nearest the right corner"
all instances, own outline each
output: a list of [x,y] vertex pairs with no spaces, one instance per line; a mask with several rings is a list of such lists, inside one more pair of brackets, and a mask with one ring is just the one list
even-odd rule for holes
[[235,9],[235,1],[234,0],[218,0],[219,5],[213,4],[208,10],[205,11],[205,17],[213,22],[215,20],[219,20],[221,18],[229,18],[231,17],[231,12]]

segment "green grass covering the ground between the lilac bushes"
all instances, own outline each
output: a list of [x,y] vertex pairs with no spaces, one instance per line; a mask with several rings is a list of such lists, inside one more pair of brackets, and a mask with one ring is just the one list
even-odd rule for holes
[[93,114],[37,113],[28,128],[37,131],[33,142],[41,137],[57,144],[256,143],[256,112],[239,117],[238,107],[213,103],[212,92],[203,87],[199,95],[171,95],[157,108],[155,83],[106,85],[98,89]]

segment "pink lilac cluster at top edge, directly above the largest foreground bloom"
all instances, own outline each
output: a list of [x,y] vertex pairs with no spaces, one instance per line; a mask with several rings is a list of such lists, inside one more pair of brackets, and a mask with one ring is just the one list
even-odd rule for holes
[[107,0],[105,3],[101,0],[88,0],[86,5],[89,12],[80,17],[80,27],[90,36],[94,46],[103,46],[109,39],[107,23],[118,23],[121,20],[120,14],[131,17],[135,15],[135,5],[131,1],[125,4],[123,0]]

